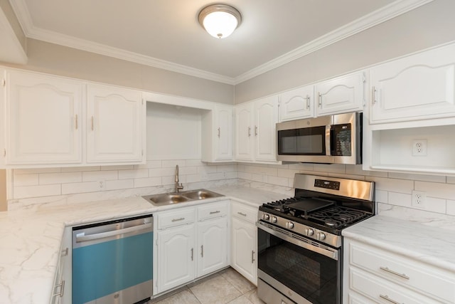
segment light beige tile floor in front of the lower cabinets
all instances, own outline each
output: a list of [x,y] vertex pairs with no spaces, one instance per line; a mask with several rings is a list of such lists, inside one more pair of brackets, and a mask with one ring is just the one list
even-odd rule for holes
[[232,268],[163,295],[148,304],[264,304],[256,286]]

